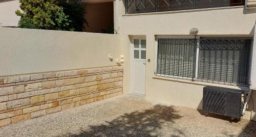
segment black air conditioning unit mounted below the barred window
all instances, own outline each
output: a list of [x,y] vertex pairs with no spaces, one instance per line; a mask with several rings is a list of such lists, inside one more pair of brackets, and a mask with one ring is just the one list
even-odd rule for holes
[[242,90],[204,87],[203,111],[240,119],[243,94]]

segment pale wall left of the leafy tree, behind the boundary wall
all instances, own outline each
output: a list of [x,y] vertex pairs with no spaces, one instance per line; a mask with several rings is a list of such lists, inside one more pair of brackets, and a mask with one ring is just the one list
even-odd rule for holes
[[19,16],[15,14],[15,11],[18,9],[18,0],[0,1],[0,26],[17,26]]

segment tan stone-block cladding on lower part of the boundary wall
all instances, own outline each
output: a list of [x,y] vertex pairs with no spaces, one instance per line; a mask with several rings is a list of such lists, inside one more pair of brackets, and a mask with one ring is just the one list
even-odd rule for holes
[[0,77],[0,127],[122,94],[122,66]]

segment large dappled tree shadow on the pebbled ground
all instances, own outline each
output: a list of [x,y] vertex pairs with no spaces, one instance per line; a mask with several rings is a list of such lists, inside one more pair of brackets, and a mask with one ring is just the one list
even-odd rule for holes
[[[173,106],[156,105],[152,109],[124,114],[102,125],[91,125],[80,134],[65,134],[61,136],[160,136],[157,130],[163,123],[174,123],[181,116]],[[179,131],[182,133],[182,131]]]

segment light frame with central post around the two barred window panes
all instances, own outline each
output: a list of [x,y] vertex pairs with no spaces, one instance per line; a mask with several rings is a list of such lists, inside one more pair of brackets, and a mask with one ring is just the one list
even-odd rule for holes
[[[168,78],[178,78],[178,79],[183,79],[183,80],[191,80],[191,81],[198,81],[200,83],[209,83],[209,82],[204,82],[200,81],[198,78],[199,76],[199,67],[200,67],[200,38],[207,38],[207,39],[251,39],[253,41],[253,37],[226,37],[226,36],[220,36],[220,37],[210,37],[210,36],[156,36],[155,37],[155,76],[160,76],[160,77],[168,77]],[[197,51],[196,51],[196,66],[195,66],[195,77],[184,77],[184,76],[174,76],[174,75],[167,75],[167,74],[157,74],[157,67],[158,67],[158,39],[197,39]],[[209,83],[209,84],[217,84],[217,85],[226,85],[225,83],[229,83],[229,85],[226,86],[233,86],[236,85],[239,87],[240,85],[250,87],[251,86],[251,66],[252,66],[252,52],[253,52],[253,43],[251,42],[250,45],[250,56],[249,56],[249,65],[248,65],[248,84],[236,84],[236,83],[230,83],[230,82],[221,82],[224,84],[218,84],[215,82],[218,82],[216,80],[213,80],[215,82]]]

